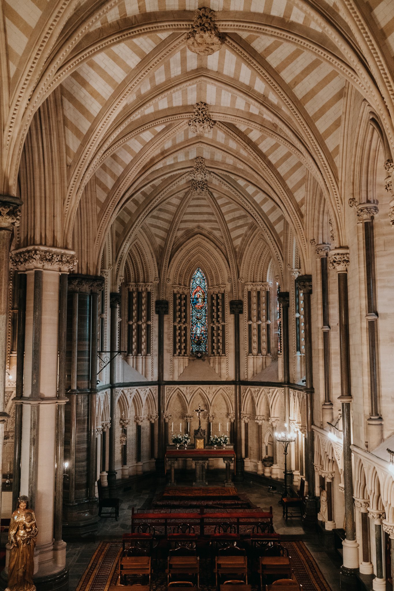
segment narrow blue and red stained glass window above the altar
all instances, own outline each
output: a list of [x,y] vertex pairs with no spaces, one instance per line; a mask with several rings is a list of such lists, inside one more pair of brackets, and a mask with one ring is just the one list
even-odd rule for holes
[[207,353],[207,280],[200,267],[190,283],[191,353],[200,357]]

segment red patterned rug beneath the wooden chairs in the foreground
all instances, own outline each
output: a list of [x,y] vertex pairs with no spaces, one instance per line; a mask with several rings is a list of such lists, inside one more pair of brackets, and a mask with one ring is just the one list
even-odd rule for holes
[[[331,591],[325,581],[323,573],[317,566],[310,551],[303,542],[284,542],[289,550],[294,574],[299,583],[304,587],[303,591]],[[90,560],[89,566],[77,585],[76,591],[108,591],[109,585],[118,583],[119,557],[121,556],[121,543],[100,542]],[[167,560],[159,559],[153,563],[152,591],[165,591],[167,589],[167,575],[165,569]],[[259,589],[258,577],[250,577],[253,591]],[[210,558],[200,558],[200,590],[209,591],[214,587],[213,568]]]

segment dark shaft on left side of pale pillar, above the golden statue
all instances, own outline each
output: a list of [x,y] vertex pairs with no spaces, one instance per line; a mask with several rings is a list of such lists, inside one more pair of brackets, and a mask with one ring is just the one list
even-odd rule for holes
[[17,342],[17,379],[15,384],[15,435],[14,435],[14,471],[12,479],[12,509],[17,506],[21,489],[21,443],[22,443],[22,404],[23,372],[25,361],[25,319],[26,319],[26,274],[18,277],[18,342]]

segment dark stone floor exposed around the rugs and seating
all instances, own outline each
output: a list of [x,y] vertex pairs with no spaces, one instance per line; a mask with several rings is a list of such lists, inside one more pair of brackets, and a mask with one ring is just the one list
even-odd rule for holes
[[[179,477],[177,482],[180,485],[182,484]],[[190,483],[184,482],[184,484],[188,485]],[[212,480],[212,482],[209,481],[209,484],[215,486],[220,485],[220,482]],[[96,541],[76,541],[67,544],[70,591],[76,589],[80,577],[86,569],[87,564],[89,564],[90,558],[99,541],[121,540],[122,534],[129,531],[130,528],[131,508],[141,508],[146,501],[152,500],[163,488],[164,485],[158,484],[157,480],[152,478],[145,479],[140,485],[133,485],[129,491],[119,493],[118,496],[121,498],[121,506],[118,521],[115,521],[113,518],[101,518]],[[273,527],[275,531],[281,535],[295,535],[297,539],[302,539],[320,566],[325,580],[327,580],[332,591],[340,590],[339,558],[334,552],[327,553],[324,551],[324,547],[316,534],[305,533],[302,529],[301,518],[292,517],[287,522],[285,521],[282,517],[282,506],[278,504],[280,492],[269,492],[267,486],[258,485],[248,480],[248,478],[243,483],[237,483],[236,488],[238,492],[248,495],[253,504],[263,509],[268,509],[272,505]]]

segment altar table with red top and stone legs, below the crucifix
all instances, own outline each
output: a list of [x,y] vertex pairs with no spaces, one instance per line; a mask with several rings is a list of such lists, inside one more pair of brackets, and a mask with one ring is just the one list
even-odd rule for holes
[[165,453],[165,467],[170,469],[170,486],[175,486],[175,463],[177,460],[191,459],[195,464],[196,476],[193,486],[207,486],[206,466],[210,459],[223,459],[226,465],[226,479],[224,486],[233,486],[231,480],[231,464],[234,464],[235,473],[235,452],[233,449],[213,449],[213,447],[204,447],[204,449],[174,449],[174,446],[168,446]]

